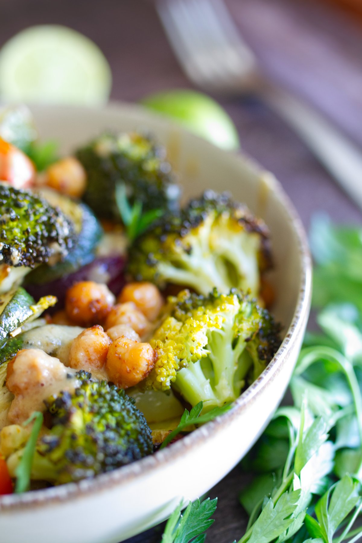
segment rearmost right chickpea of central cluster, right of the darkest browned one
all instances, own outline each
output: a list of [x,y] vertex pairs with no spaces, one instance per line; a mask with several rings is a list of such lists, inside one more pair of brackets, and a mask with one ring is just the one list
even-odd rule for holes
[[159,289],[148,282],[128,283],[123,287],[117,302],[133,302],[142,311],[148,320],[155,320],[158,317],[161,307],[164,304]]

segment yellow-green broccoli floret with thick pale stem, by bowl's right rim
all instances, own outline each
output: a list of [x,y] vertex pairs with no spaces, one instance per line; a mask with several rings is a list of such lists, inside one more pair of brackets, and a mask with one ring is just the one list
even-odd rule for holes
[[204,409],[235,400],[280,345],[280,326],[257,302],[232,289],[207,296],[182,291],[168,298],[150,343],[157,362],[146,386],[172,387]]

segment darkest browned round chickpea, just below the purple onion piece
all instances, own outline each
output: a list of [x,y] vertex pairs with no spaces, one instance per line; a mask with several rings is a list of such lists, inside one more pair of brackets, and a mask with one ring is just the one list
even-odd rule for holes
[[68,319],[75,324],[92,326],[102,323],[114,302],[115,297],[107,285],[94,281],[80,281],[67,290],[65,312]]

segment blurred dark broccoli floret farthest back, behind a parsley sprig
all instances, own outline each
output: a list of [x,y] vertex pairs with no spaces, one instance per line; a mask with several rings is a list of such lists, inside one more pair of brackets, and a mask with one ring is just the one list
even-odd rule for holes
[[84,201],[98,217],[121,222],[116,204],[116,185],[123,183],[132,205],[143,211],[178,210],[180,187],[166,162],[165,149],[139,132],[118,136],[104,134],[76,156],[87,174]]

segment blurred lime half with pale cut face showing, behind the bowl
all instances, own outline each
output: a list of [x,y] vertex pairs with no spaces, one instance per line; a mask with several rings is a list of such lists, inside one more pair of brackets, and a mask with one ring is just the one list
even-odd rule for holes
[[0,50],[0,98],[52,104],[104,104],[111,72],[101,50],[75,30],[30,27]]

